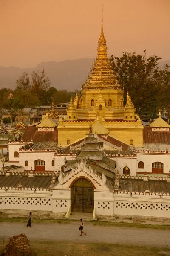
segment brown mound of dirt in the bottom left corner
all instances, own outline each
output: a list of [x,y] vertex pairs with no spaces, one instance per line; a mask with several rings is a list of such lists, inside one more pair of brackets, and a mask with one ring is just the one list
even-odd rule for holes
[[35,252],[30,248],[27,236],[21,233],[9,239],[1,256],[35,256]]

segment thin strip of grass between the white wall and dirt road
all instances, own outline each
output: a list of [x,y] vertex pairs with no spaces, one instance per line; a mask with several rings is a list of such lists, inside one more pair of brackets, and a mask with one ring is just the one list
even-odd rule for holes
[[[72,222],[77,222],[79,220],[68,220],[68,219],[36,219],[32,218],[32,223],[39,224],[70,224]],[[26,223],[26,218],[0,218],[0,222],[17,222],[17,223]],[[127,222],[112,222],[112,221],[86,221],[86,223],[91,223],[94,226],[105,226],[105,227],[125,227],[125,228],[146,228],[154,230],[170,230],[170,225],[151,225],[143,224],[140,221],[135,221],[132,223]]]

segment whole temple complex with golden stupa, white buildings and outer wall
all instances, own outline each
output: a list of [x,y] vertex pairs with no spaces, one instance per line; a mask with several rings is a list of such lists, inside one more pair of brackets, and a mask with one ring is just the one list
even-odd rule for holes
[[8,148],[8,157],[0,171],[1,216],[34,211],[71,218],[80,212],[94,220],[169,220],[170,125],[159,112],[144,127],[130,92],[124,107],[123,93],[102,24],[81,96],[57,108],[52,103],[31,125],[18,123],[11,136],[2,129],[0,147]]

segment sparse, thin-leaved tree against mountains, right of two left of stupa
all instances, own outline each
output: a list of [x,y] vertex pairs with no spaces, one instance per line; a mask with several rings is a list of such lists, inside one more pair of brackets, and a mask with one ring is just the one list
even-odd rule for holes
[[51,82],[48,76],[45,75],[44,69],[42,72],[39,72],[39,70],[37,72],[33,71],[31,76],[32,93],[35,93],[37,98],[40,99],[41,91],[47,91],[50,88]]

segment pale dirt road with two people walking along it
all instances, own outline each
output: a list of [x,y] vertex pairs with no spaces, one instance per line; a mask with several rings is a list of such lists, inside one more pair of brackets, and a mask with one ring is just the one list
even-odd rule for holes
[[150,230],[122,227],[101,227],[85,223],[87,236],[79,236],[79,223],[34,224],[26,227],[23,223],[0,223],[0,240],[25,233],[29,240],[53,240],[73,242],[108,242],[114,244],[133,244],[152,247],[170,247],[169,230]]

